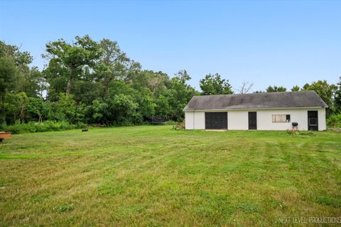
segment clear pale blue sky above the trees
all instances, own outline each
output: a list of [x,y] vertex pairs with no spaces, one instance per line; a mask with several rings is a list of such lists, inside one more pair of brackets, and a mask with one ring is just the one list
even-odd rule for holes
[[341,77],[341,1],[6,1],[0,40],[31,52],[76,35],[117,40],[143,69],[187,70],[200,89],[208,73],[252,90]]

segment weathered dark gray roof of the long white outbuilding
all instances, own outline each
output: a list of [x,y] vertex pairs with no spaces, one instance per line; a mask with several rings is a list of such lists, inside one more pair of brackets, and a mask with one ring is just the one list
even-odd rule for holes
[[183,111],[328,107],[314,91],[193,96]]

